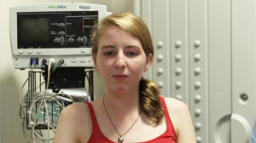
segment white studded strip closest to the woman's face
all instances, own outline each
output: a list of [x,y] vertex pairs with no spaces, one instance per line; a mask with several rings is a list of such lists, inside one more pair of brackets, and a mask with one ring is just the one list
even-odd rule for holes
[[[160,87],[161,94],[170,96],[170,34],[169,34],[169,1],[152,0],[152,37],[154,43],[154,62],[152,78]],[[157,5],[157,6],[156,6]],[[163,59],[157,57],[162,55]]]

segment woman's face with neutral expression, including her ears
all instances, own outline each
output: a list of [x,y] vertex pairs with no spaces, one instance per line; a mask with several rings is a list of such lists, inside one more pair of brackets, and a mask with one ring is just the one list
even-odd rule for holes
[[94,62],[106,90],[117,94],[138,90],[139,81],[151,65],[153,55],[149,54],[147,58],[137,37],[117,26],[110,26],[98,45]]

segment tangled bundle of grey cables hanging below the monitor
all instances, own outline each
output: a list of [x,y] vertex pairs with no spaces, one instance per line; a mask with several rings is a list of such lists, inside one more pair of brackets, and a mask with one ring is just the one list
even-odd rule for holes
[[[32,134],[30,136],[30,138],[33,140],[33,142],[35,143],[36,140],[35,140],[35,136],[37,137],[38,140],[41,140],[41,141],[50,141],[50,140],[53,140],[53,138],[50,138],[49,136],[49,129],[53,129],[55,131],[55,126],[53,123],[49,122],[49,111],[48,111],[48,106],[47,106],[47,101],[49,100],[53,100],[55,101],[55,103],[57,103],[58,106],[61,107],[61,109],[63,110],[65,105],[64,105],[64,101],[67,102],[67,101],[71,101],[71,102],[74,102],[72,96],[70,96],[69,94],[64,94],[64,93],[59,93],[59,94],[52,94],[52,95],[46,95],[46,92],[49,88],[49,76],[52,72],[55,71],[55,69],[57,69],[58,67],[60,67],[63,63],[64,63],[64,60],[61,59],[61,60],[58,60],[58,62],[55,64],[55,59],[49,59],[48,60],[48,64],[47,63],[47,60],[43,60],[42,61],[43,65],[47,68],[47,80],[45,79],[43,83],[40,83],[40,85],[38,87],[35,87],[34,89],[27,89],[26,91],[26,94],[23,96],[22,98],[22,91],[26,85],[26,83],[32,78],[32,72],[33,72],[33,68],[34,66],[37,64],[36,61],[32,61],[32,68],[31,68],[31,71],[29,72],[29,75],[28,77],[26,78],[26,81],[23,83],[21,89],[20,89],[20,112],[19,112],[19,117],[20,117],[20,123],[22,125],[22,130],[23,130],[23,134],[26,138],[26,141],[29,143],[29,140],[28,140],[28,136],[26,134],[26,131],[25,131],[25,111],[24,111],[24,106],[22,104],[26,103],[26,100],[29,98],[28,95],[30,92],[32,91],[36,91],[36,89],[38,89],[39,87],[41,87],[44,83],[46,85],[45,87],[45,91],[44,92],[40,92],[39,95],[37,96],[34,96],[32,101],[30,102],[30,106],[29,106],[29,111],[27,111],[27,114],[28,114],[28,120],[29,120],[29,127],[32,129]],[[51,70],[51,67],[54,66]],[[37,93],[36,93],[37,94]],[[64,97],[63,97],[64,95]],[[33,121],[32,121],[32,106],[34,106],[34,104],[37,104],[38,100],[41,100],[40,101],[40,105],[38,106],[38,110],[36,109],[36,116],[34,117]],[[62,103],[62,104],[61,104]],[[47,121],[44,121],[46,123],[36,123],[38,122],[37,119],[38,119],[38,113],[40,112],[41,110],[41,107],[44,106],[45,108],[45,112],[46,112],[46,116],[47,116]],[[22,115],[25,117],[22,117]],[[53,115],[56,115],[52,112],[52,116]],[[59,115],[56,115],[56,116],[59,116]],[[43,138],[42,134],[39,134],[37,131],[36,131],[36,127],[39,126],[42,126],[42,125],[47,125],[47,130],[48,130],[48,139],[45,140],[45,138]]]

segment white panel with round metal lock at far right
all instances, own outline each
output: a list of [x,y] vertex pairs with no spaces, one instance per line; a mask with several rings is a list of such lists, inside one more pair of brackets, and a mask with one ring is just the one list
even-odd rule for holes
[[249,142],[256,116],[255,4],[232,1],[232,143]]

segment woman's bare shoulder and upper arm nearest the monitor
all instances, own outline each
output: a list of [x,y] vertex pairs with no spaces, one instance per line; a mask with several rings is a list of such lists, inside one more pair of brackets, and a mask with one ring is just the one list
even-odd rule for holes
[[85,103],[65,107],[58,120],[54,143],[84,142],[90,136],[89,124],[90,113]]

